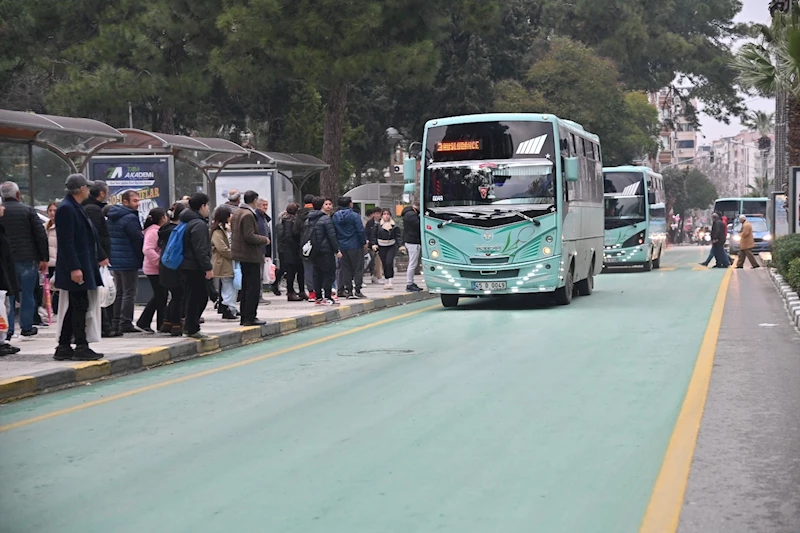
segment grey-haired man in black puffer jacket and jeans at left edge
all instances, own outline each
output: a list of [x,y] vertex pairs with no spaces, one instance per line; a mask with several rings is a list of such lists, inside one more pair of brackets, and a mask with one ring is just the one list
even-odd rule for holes
[[[47,234],[36,211],[20,202],[21,195],[16,183],[7,181],[0,185],[0,196],[6,208],[0,225],[5,228],[11,245],[20,286],[19,325],[22,335],[30,337],[38,333],[38,329],[33,326],[34,314],[38,313],[34,290],[39,280],[39,271],[47,272],[47,262],[50,260]],[[9,303],[8,338],[11,338],[14,334],[13,296],[9,298]]]

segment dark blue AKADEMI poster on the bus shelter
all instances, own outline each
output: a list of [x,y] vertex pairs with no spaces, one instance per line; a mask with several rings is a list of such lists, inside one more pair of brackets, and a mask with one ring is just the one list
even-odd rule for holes
[[96,156],[90,163],[90,176],[108,184],[109,204],[122,203],[126,191],[135,191],[143,226],[151,209],[171,205],[172,156]]

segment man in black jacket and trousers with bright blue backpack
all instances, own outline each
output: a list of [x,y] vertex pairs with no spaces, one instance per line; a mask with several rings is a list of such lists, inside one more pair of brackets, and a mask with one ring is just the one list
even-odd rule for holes
[[200,317],[208,303],[207,280],[214,277],[211,266],[211,236],[208,233],[208,196],[201,192],[189,198],[189,209],[181,213],[186,224],[181,278],[186,288],[185,333],[195,339],[207,337],[200,331]]

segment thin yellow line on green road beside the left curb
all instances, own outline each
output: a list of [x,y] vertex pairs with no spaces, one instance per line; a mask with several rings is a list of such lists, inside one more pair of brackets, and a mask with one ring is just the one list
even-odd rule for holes
[[231,363],[229,365],[221,366],[219,368],[212,368],[210,370],[204,370],[202,372],[197,372],[195,374],[189,374],[187,376],[183,376],[183,377],[180,377],[180,378],[170,379],[168,381],[164,381],[164,382],[161,382],[161,383],[156,383],[154,385],[148,385],[146,387],[133,389],[133,390],[130,390],[128,392],[115,394],[114,396],[109,396],[108,398],[101,398],[99,400],[94,400],[92,402],[87,402],[87,403],[84,403],[84,404],[81,404],[81,405],[75,405],[73,407],[68,407],[66,409],[59,409],[58,411],[53,411],[52,413],[48,413],[46,415],[35,416],[33,418],[20,420],[19,422],[14,422],[12,424],[7,424],[5,426],[0,426],[0,433],[2,433],[4,431],[10,431],[12,429],[17,429],[17,428],[29,426],[29,425],[35,424],[37,422],[44,422],[45,420],[49,420],[49,419],[55,418],[57,416],[67,415],[67,414],[74,413],[74,412],[77,412],[77,411],[83,411],[84,409],[88,409],[90,407],[96,407],[98,405],[103,405],[103,404],[110,403],[110,402],[113,402],[113,401],[116,401],[116,400],[122,400],[123,398],[130,398],[131,396],[136,396],[137,394],[142,394],[144,392],[149,392],[149,391],[152,391],[152,390],[161,389],[163,387],[168,387],[170,385],[176,385],[178,383],[184,383],[186,381],[191,381],[193,379],[202,378],[202,377],[205,377],[205,376],[210,376],[210,375],[216,374],[218,372],[224,372],[225,370],[231,370],[231,369],[234,369],[234,368],[239,368],[239,367],[251,365],[253,363],[257,363],[259,361],[263,361],[263,360],[269,359],[271,357],[276,357],[278,355],[287,354],[289,352],[302,350],[304,348],[309,348],[311,346],[316,346],[317,344],[323,344],[323,343],[326,343],[326,342],[330,342],[330,341],[332,341],[334,339],[338,339],[340,337],[345,337],[347,335],[352,335],[354,333],[359,333],[359,332],[367,330],[367,329],[372,329],[372,328],[375,328],[375,327],[378,327],[378,326],[383,326],[384,324],[389,324],[391,322],[396,322],[396,321],[402,320],[404,318],[408,318],[408,317],[411,317],[411,316],[414,316],[414,315],[418,315],[420,313],[424,313],[426,311],[430,311],[431,309],[436,309],[437,307],[440,307],[440,305],[438,305],[438,304],[437,305],[432,305],[432,306],[426,307],[424,309],[419,309],[417,311],[411,311],[410,313],[405,313],[405,314],[402,314],[402,315],[399,315],[399,316],[396,316],[396,317],[385,318],[383,320],[379,320],[377,322],[373,322],[372,324],[367,324],[366,326],[359,326],[357,328],[353,328],[353,329],[348,330],[348,331],[343,331],[341,333],[336,333],[334,335],[328,335],[327,337],[323,337],[323,338],[317,339],[315,341],[305,342],[303,344],[298,344],[296,346],[290,346],[289,348],[284,348],[282,350],[276,350],[276,351],[270,352],[268,354],[259,355],[259,356],[256,356],[256,357],[252,357],[250,359],[245,359],[244,361],[239,361],[238,363]]

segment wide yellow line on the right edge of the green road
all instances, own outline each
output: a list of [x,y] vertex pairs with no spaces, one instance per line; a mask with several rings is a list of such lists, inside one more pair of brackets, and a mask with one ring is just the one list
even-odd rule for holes
[[700,345],[692,379],[669,440],[667,453],[664,455],[664,462],[661,464],[661,471],[656,478],[639,533],[673,533],[678,530],[694,448],[697,445],[697,435],[700,432],[700,422],[703,419],[703,410],[708,397],[708,386],[711,382],[714,354],[717,350],[717,339],[722,325],[722,314],[725,310],[731,272],[732,270],[728,269],[717,291],[717,298],[711,310],[711,318],[708,320],[703,343]]

